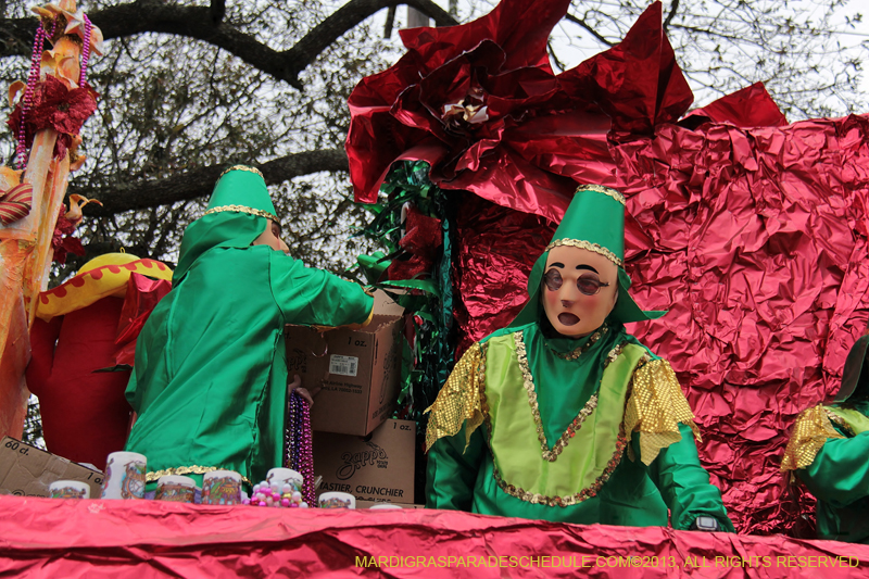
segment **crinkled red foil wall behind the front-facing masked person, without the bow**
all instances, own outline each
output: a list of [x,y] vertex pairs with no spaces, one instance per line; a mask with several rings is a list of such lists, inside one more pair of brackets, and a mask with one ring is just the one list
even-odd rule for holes
[[[633,216],[632,294],[669,310],[629,330],[679,375],[739,530],[790,531],[811,503],[784,492],[786,432],[836,391],[869,315],[869,116],[665,125],[614,154]],[[464,349],[518,313],[553,228],[474,196],[462,203]]]

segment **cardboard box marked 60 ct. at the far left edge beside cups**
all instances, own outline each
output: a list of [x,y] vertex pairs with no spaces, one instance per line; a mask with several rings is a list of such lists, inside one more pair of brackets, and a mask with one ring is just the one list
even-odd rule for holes
[[103,474],[25,444],[12,437],[0,442],[0,493],[48,496],[55,480],[80,480],[90,484],[90,496],[99,499]]

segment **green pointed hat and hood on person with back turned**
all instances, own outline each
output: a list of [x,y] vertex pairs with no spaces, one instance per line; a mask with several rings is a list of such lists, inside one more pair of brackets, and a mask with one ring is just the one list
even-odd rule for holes
[[184,279],[197,259],[210,249],[250,247],[268,227],[269,219],[280,223],[263,174],[247,165],[224,171],[204,215],[184,232],[173,285]]

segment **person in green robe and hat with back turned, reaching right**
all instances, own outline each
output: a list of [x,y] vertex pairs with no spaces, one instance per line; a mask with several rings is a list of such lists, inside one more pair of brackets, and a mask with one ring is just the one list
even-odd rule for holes
[[290,257],[262,174],[221,176],[181,240],[172,291],[148,319],[126,397],[138,414],[126,450],[164,475],[235,470],[264,480],[284,464],[285,325],[362,325],[361,286]]

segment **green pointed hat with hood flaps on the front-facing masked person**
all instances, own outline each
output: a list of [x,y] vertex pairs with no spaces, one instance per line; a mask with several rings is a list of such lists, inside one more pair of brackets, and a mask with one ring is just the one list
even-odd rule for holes
[[534,263],[528,276],[530,299],[509,327],[537,322],[540,303],[540,285],[550,250],[561,246],[580,248],[600,253],[618,266],[618,300],[609,319],[627,324],[655,319],[667,312],[644,312],[633,301],[628,289],[631,278],[625,273],[625,198],[615,189],[601,185],[582,185],[564,214],[546,250]]

